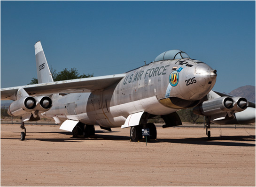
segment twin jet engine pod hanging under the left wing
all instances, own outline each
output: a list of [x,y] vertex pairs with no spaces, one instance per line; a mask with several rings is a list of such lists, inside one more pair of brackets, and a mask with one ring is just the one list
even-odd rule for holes
[[48,96],[31,97],[26,96],[10,104],[8,115],[22,116],[33,111],[46,112],[53,106],[53,101]]

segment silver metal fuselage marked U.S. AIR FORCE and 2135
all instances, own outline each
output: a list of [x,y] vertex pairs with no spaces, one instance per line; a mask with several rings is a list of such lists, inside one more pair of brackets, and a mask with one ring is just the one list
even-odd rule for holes
[[213,88],[216,76],[209,65],[190,58],[152,62],[127,72],[120,82],[105,89],[53,97],[53,107],[42,115],[59,124],[71,119],[121,127],[130,114],[167,115],[183,108],[164,105],[162,99],[201,100]]

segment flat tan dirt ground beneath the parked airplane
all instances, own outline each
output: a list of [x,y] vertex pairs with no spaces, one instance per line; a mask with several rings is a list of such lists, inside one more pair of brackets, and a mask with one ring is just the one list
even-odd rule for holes
[[58,125],[1,124],[1,186],[255,186],[253,129],[157,126],[157,141],[130,129],[72,138]]

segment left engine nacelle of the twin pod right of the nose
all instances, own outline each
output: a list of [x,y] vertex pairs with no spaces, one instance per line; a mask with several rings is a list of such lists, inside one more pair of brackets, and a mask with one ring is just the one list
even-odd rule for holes
[[217,115],[234,110],[235,101],[231,97],[220,97],[209,101],[203,101],[193,108],[196,115]]

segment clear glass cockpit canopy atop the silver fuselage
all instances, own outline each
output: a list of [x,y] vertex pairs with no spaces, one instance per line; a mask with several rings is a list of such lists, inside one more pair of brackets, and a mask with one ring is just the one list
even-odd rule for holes
[[160,55],[158,55],[154,62],[160,61],[160,60],[174,60],[174,59],[182,59],[182,58],[190,58],[186,52],[183,52],[181,50],[168,50]]

